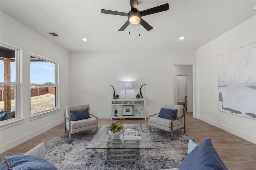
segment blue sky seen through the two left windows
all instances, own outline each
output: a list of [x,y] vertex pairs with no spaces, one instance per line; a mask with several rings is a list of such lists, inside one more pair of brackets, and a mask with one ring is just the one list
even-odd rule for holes
[[[30,64],[30,82],[44,84],[55,81],[55,65],[51,62],[33,61]],[[15,63],[11,62],[11,82],[15,81]],[[3,82],[3,61],[0,60],[0,82]]]

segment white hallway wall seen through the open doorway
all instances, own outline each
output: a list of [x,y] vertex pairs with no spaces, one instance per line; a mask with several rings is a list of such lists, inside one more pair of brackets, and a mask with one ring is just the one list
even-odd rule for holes
[[[187,100],[188,112],[193,112],[193,67],[192,65],[174,65],[173,66],[173,81],[174,87],[177,87],[177,75],[187,76]],[[174,104],[177,103],[177,88],[174,88]]]

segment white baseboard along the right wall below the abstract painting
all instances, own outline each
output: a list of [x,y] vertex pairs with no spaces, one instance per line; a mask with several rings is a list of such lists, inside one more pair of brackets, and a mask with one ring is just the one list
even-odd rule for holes
[[241,131],[238,131],[238,130],[236,130],[236,129],[230,128],[230,127],[228,127],[228,126],[222,125],[222,124],[220,124],[220,123],[218,123],[218,122],[212,121],[212,120],[210,120],[210,119],[208,119],[208,118],[205,118],[205,117],[203,117],[203,116],[196,115],[196,117],[197,117],[198,119],[200,119],[200,120],[203,120],[204,122],[207,122],[207,123],[209,123],[209,124],[211,124],[211,125],[213,125],[213,126],[216,126],[216,127],[220,128],[220,129],[223,129],[224,131],[227,131],[227,132],[229,132],[229,133],[232,133],[233,135],[236,135],[236,136],[238,136],[238,137],[241,137],[241,138],[243,138],[243,139],[245,139],[245,140],[247,140],[247,141],[250,141],[250,142],[256,144],[256,137],[253,137],[253,136],[251,136],[251,135],[248,135],[248,134],[243,133],[243,132],[241,132]]

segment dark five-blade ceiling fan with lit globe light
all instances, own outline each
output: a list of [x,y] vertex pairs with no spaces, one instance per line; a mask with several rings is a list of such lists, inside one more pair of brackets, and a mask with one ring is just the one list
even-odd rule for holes
[[128,13],[125,12],[118,12],[112,10],[101,9],[101,13],[103,14],[112,14],[112,15],[120,15],[120,16],[128,16],[128,20],[124,23],[124,25],[118,31],[124,31],[128,25],[131,24],[140,24],[142,25],[147,31],[150,31],[153,27],[149,25],[145,20],[141,17],[155,14],[158,12],[163,12],[169,10],[169,4],[159,5],[157,7],[149,8],[143,11],[138,10],[138,0],[130,0],[131,10]]

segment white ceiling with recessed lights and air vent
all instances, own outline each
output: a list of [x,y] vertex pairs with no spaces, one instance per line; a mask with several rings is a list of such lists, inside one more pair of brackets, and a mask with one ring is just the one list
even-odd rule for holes
[[[138,1],[142,11],[164,3],[169,10],[142,17],[153,29],[139,25],[118,29],[125,16],[101,9],[130,11],[123,1],[3,1],[1,10],[68,51],[196,50],[256,13],[256,1]],[[61,37],[51,37],[56,32]],[[185,36],[183,41],[178,40]],[[88,38],[87,42],[82,38]]]

